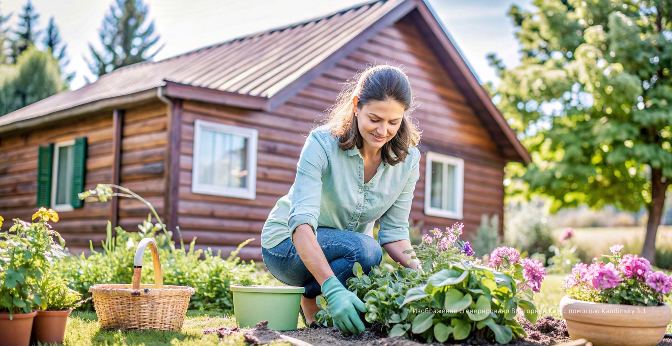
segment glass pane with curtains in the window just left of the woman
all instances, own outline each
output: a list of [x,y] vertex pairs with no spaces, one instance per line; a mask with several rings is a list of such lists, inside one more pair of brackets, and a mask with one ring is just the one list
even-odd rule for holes
[[246,187],[247,139],[203,130],[199,150],[199,183]]

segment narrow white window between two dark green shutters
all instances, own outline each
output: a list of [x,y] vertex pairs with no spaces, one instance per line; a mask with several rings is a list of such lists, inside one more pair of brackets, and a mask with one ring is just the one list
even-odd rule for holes
[[52,173],[51,205],[56,212],[73,210],[73,166],[75,140],[54,144],[54,168]]

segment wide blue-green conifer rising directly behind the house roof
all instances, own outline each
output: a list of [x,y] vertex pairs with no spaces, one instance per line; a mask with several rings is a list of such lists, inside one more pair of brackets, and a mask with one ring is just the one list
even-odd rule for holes
[[[142,0],[115,0],[99,30],[103,51],[89,44],[93,61],[91,72],[97,76],[136,62],[153,58],[163,46],[149,53],[161,36],[154,33],[154,21],[145,24],[147,7]],[[146,26],[146,28],[145,28]]]

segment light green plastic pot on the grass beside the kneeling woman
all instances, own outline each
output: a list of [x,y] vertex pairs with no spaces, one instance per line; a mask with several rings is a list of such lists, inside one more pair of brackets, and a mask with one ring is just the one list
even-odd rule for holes
[[298,308],[305,288],[296,286],[228,286],[233,292],[233,313],[241,327],[254,327],[262,320],[276,331],[298,327]]

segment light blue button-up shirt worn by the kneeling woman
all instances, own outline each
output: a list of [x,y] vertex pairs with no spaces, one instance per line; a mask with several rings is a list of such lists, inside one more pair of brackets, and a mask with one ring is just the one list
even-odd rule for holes
[[[364,159],[355,146],[341,150],[327,125],[310,132],[296,164],[296,179],[268,214],[261,246],[271,249],[300,224],[364,233],[380,218],[378,243],[409,240],[409,214],[420,177],[420,150],[409,148],[404,163],[380,163],[364,183]],[[396,155],[392,154],[393,157]],[[292,241],[292,243],[294,243]]]

